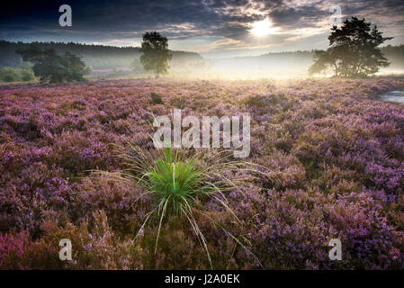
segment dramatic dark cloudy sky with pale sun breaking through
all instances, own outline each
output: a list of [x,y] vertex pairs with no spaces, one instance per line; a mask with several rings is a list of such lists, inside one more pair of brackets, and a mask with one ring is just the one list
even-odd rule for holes
[[[58,23],[62,4],[71,27]],[[394,37],[388,44],[404,43],[403,0],[13,0],[0,7],[0,40],[139,46],[146,31],[159,31],[170,49],[206,58],[325,49],[333,5],[343,21],[364,17]]]

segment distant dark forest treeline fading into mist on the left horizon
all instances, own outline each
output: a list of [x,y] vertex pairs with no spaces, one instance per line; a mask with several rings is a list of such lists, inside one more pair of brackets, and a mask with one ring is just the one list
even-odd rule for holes
[[[53,48],[58,54],[73,53],[85,62],[85,65],[93,69],[112,69],[131,67],[142,70],[140,64],[140,49],[138,47],[114,47],[94,44],[63,43],[63,42],[33,42],[40,49]],[[27,48],[30,43],[10,42],[0,40],[0,67],[24,67],[22,58],[15,53],[16,49]],[[185,51],[171,51],[173,59],[170,62],[172,68],[199,67],[203,65],[203,58],[198,53]]]

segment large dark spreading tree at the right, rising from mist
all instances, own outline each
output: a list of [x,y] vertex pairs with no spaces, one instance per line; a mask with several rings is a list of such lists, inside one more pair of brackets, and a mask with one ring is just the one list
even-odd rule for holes
[[334,76],[360,77],[370,76],[380,67],[388,67],[389,61],[378,48],[392,37],[382,37],[376,25],[364,19],[352,17],[346,19],[341,28],[333,26],[328,36],[329,48],[314,51],[314,63],[310,66],[310,74],[334,70]]

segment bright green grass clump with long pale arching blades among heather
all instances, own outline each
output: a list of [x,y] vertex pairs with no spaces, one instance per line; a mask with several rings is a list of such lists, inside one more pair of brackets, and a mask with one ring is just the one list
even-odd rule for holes
[[233,238],[236,245],[251,253],[247,248],[247,238],[233,236],[211,217],[209,211],[204,210],[202,204],[211,198],[215,199],[223,207],[223,211],[229,213],[232,222],[241,225],[241,221],[229,208],[225,193],[235,189],[242,193],[240,185],[250,184],[251,178],[230,180],[228,175],[240,169],[254,169],[251,169],[247,162],[229,160],[230,153],[232,152],[227,150],[211,149],[210,153],[206,153],[206,150],[190,152],[171,148],[144,151],[130,144],[129,148],[121,148],[120,157],[125,160],[127,168],[122,170],[118,177],[144,188],[138,200],[148,195],[153,202],[133,240],[136,241],[148,220],[157,216],[156,253],[163,220],[166,217],[184,217],[204,248],[212,267],[206,238],[195,220],[195,215],[199,214],[208,219],[213,227],[219,227]]

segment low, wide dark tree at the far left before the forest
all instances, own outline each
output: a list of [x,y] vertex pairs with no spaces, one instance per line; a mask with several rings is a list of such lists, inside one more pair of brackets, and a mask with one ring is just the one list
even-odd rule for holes
[[90,72],[89,67],[76,55],[65,52],[63,56],[57,54],[55,49],[40,49],[37,45],[31,44],[26,49],[17,49],[17,54],[22,56],[24,61],[30,61],[35,76],[40,76],[40,82],[83,82],[84,76]]

